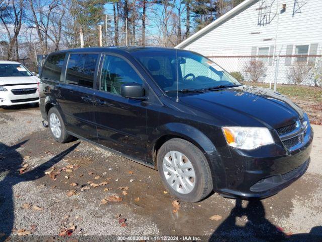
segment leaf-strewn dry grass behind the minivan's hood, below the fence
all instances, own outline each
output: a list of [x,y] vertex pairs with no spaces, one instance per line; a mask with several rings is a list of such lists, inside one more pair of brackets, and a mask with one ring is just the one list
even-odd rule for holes
[[[245,85],[269,88],[269,83],[244,82]],[[322,125],[322,88],[278,84],[277,91],[288,96],[309,116],[310,123]]]

